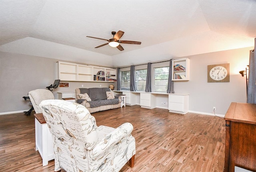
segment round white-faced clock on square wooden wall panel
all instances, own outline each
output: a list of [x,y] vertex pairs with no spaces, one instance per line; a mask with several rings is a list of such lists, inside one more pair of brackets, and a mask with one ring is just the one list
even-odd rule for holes
[[229,63],[208,65],[208,83],[229,82]]

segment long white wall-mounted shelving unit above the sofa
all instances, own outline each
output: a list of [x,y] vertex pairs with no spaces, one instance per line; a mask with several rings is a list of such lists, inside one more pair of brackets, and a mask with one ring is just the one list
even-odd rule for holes
[[61,81],[116,82],[116,69],[58,61]]

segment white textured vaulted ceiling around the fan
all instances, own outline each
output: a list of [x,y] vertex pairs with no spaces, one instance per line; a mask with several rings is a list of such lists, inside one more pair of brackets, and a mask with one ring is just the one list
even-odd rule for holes
[[[54,47],[54,57],[79,51],[125,65],[129,55],[152,49],[164,51],[164,59],[249,47],[256,37],[255,11],[255,0],[1,0],[0,51],[51,57]],[[125,32],[121,40],[142,44],[95,49],[106,41],[86,37],[110,39],[118,30]]]

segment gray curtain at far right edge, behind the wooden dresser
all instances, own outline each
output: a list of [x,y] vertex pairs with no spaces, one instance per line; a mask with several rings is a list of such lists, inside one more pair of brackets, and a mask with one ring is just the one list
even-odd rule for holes
[[[248,75],[248,93],[247,93],[247,103],[256,103],[256,38],[254,39],[254,50],[250,51],[249,60],[249,75]],[[246,76],[247,77],[247,76]]]

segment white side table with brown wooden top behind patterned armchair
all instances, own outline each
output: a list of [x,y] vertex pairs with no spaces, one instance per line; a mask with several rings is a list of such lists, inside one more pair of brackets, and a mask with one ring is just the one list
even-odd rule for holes
[[36,130],[36,151],[40,153],[43,166],[48,165],[49,160],[54,159],[54,148],[52,141],[52,134],[48,129],[46,121],[42,113],[36,113],[35,116],[35,130]]

